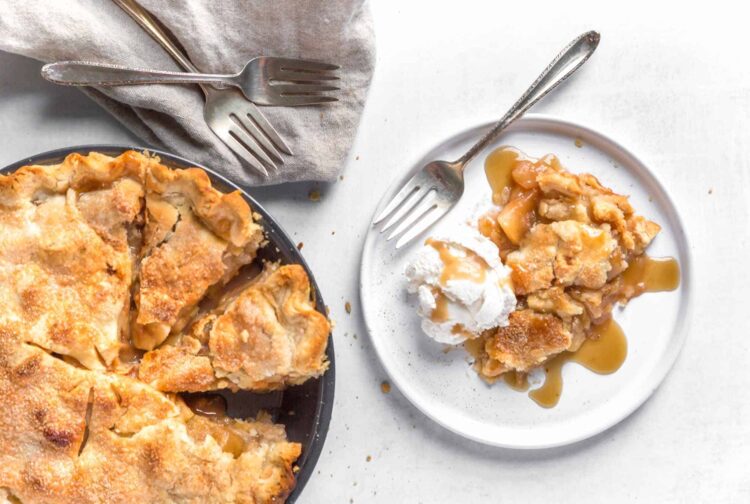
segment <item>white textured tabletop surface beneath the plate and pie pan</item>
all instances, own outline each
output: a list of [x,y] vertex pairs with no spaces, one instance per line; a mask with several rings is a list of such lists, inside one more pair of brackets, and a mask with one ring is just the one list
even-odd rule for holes
[[[670,4],[373,5],[378,66],[344,180],[321,187],[318,203],[306,185],[254,192],[304,242],[337,322],[334,417],[301,503],[750,500],[750,32],[736,3]],[[357,296],[362,240],[400,170],[501,114],[590,28],[602,32],[596,55],[535,110],[611,134],[664,182],[691,238],[696,312],[674,369],[623,423],[549,451],[480,446],[427,420],[398,390],[380,392]],[[77,91],[39,82],[37,70],[0,54],[0,164],[134,141]]]

